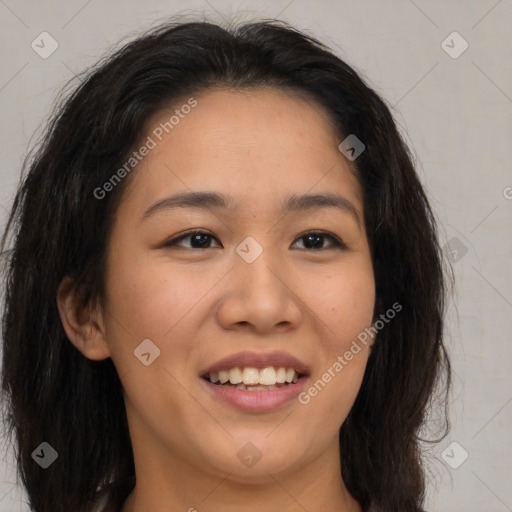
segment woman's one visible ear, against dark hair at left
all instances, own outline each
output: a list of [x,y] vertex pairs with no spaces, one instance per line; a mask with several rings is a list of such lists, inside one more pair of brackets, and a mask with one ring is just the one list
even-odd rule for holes
[[69,276],[57,290],[57,308],[67,337],[85,357],[94,361],[110,357],[102,312],[81,304],[76,283]]

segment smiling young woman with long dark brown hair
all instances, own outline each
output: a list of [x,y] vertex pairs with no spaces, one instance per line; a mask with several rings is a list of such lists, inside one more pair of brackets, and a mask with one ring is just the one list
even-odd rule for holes
[[2,383],[33,510],[422,510],[446,278],[350,66],[282,22],[164,23],[28,166]]

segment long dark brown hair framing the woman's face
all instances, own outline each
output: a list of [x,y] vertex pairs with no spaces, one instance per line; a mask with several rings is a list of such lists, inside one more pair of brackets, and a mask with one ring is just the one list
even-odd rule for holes
[[[364,191],[374,315],[396,302],[402,311],[379,332],[340,427],[341,473],[363,510],[421,510],[420,433],[434,397],[444,404],[444,435],[449,428],[448,281],[435,217],[383,99],[327,46],[276,20],[230,28],[167,20],[80,78],[25,159],[1,242],[4,424],[31,507],[87,512],[108,490],[118,510],[135,485],[119,376],[110,358],[89,360],[69,341],[57,289],[71,276],[84,306],[104,303],[108,240],[132,176],[102,200],[95,189],[126,162],[152,116],[226,87],[305,93],[343,137],[355,134],[365,145],[353,164]],[[43,441],[58,452],[47,469],[32,459]]]

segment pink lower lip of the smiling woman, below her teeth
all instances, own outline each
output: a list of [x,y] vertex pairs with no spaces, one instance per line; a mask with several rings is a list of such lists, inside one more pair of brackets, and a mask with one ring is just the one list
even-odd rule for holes
[[303,390],[308,377],[301,377],[295,384],[288,384],[279,389],[268,391],[245,391],[230,386],[213,384],[209,380],[201,378],[201,381],[209,393],[215,398],[247,412],[271,411],[291,402]]

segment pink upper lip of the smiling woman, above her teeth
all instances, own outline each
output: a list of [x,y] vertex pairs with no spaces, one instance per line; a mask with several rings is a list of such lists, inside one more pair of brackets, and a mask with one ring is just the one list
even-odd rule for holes
[[294,368],[299,374],[309,375],[309,367],[300,359],[287,354],[286,352],[238,352],[228,357],[220,359],[201,372],[201,377],[209,373],[219,372],[220,370],[229,370],[231,368],[267,368],[274,366],[276,368]]

